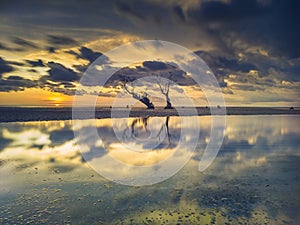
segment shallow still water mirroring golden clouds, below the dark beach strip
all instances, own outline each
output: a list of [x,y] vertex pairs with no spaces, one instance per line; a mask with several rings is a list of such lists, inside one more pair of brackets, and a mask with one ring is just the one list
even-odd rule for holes
[[[109,181],[89,162],[109,155],[135,166],[163,161],[180,139],[178,118],[119,119],[119,138],[128,145],[138,138],[145,150],[132,155],[118,145],[112,121],[97,120],[107,151],[94,145],[84,158],[71,121],[2,123],[0,223],[299,224],[299,118],[228,116],[217,158],[199,172],[211,121],[193,117],[200,121],[201,132],[191,159],[173,177],[142,187]],[[161,129],[166,124],[168,129]],[[143,144],[149,135],[163,141]]]

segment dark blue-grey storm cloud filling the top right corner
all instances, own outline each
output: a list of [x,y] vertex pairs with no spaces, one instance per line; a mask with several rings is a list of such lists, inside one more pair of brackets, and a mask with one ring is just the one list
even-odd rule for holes
[[203,1],[187,15],[215,36],[219,46],[223,43],[223,49],[235,50],[232,48],[239,46],[233,42],[242,40],[249,46],[262,46],[271,54],[296,58],[300,56],[300,30],[296,28],[299,9],[297,0],[273,0],[265,5],[256,0]]

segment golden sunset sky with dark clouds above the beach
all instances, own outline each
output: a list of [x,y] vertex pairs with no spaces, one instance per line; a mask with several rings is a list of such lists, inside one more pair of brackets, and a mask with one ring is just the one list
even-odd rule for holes
[[[299,10],[297,0],[2,0],[0,105],[71,106],[99,56],[163,40],[207,63],[228,106],[300,106]],[[153,68],[142,60],[124,70]],[[99,104],[111,105],[117,91],[106,88]]]

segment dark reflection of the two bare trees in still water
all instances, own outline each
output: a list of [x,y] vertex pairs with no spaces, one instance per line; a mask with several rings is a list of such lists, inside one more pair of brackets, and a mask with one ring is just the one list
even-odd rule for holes
[[[139,117],[134,119],[123,132],[123,139],[126,141],[148,140],[149,138],[158,141],[160,144],[155,149],[173,148],[176,146],[172,142],[172,136],[169,128],[170,117],[165,118],[157,132],[151,131],[148,127],[150,117]],[[153,132],[153,133],[152,133]]]

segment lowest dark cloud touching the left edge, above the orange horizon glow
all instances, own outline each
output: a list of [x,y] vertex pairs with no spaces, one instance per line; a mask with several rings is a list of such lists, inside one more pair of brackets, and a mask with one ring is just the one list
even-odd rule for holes
[[23,91],[25,88],[35,87],[36,83],[20,76],[9,76],[6,79],[0,79],[0,92]]

